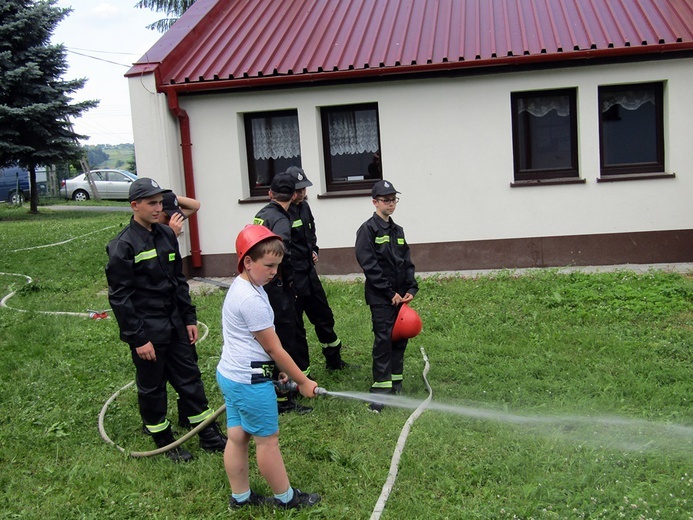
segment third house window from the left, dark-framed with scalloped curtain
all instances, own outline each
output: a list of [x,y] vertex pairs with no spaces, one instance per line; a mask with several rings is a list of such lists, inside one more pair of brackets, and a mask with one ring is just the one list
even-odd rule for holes
[[511,94],[515,181],[578,177],[576,90]]

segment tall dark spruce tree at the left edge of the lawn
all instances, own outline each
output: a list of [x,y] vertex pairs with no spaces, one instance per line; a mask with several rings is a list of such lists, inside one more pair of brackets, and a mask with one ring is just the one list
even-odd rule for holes
[[79,157],[70,118],[98,101],[70,104],[86,79],[64,81],[65,48],[50,36],[71,9],[56,0],[0,0],[0,166],[29,170],[30,212],[38,212],[36,166]]

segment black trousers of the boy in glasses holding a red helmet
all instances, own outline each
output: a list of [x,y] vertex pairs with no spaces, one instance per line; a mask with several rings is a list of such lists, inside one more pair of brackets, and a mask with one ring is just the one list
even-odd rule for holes
[[395,305],[371,305],[373,322],[373,385],[371,392],[392,393],[402,387],[404,351],[408,340],[392,341],[392,327],[399,308]]

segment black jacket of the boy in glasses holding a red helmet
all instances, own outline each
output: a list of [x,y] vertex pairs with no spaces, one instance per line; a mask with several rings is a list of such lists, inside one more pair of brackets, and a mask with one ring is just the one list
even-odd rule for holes
[[356,232],[356,260],[366,275],[368,305],[388,305],[395,293],[415,295],[419,290],[404,229],[392,219],[385,222],[373,213],[361,225]]

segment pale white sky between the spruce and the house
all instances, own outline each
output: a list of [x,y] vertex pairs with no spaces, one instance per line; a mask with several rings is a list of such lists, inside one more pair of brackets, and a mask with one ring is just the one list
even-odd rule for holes
[[161,37],[146,26],[161,13],[133,7],[136,0],[58,0],[57,7],[73,11],[53,32],[52,43],[67,49],[68,70],[63,79],[87,78],[73,94],[75,102],[100,100],[99,106],[73,121],[82,144],[133,143],[130,94],[125,73]]

